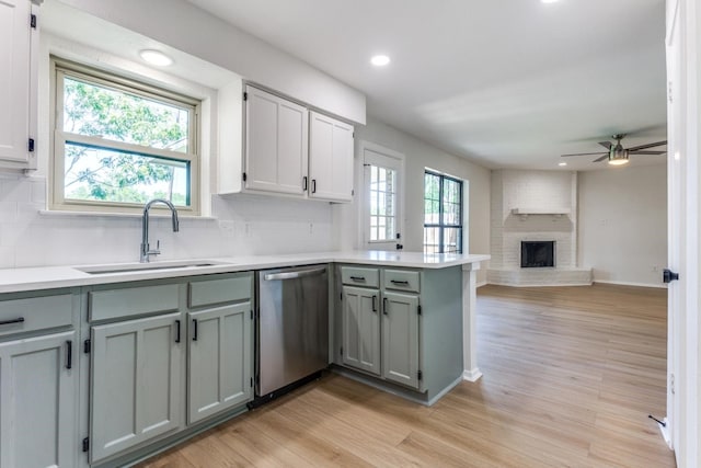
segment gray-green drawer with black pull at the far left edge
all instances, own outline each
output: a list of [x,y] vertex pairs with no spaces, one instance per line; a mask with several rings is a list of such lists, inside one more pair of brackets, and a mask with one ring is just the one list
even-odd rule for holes
[[56,327],[73,321],[73,296],[27,297],[0,303],[0,336]]

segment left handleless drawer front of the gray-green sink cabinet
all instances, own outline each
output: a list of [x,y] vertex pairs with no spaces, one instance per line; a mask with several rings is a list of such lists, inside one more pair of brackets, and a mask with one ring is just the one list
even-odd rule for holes
[[90,321],[177,310],[177,289],[165,284],[90,292]]

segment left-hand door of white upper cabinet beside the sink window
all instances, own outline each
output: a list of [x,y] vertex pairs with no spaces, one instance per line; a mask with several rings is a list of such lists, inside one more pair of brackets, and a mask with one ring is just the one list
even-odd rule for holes
[[308,161],[308,111],[246,87],[246,190],[303,195]]

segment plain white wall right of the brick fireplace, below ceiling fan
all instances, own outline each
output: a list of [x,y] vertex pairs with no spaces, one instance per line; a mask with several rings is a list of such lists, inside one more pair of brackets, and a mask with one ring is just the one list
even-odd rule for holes
[[579,259],[594,281],[662,286],[667,264],[667,168],[579,172]]

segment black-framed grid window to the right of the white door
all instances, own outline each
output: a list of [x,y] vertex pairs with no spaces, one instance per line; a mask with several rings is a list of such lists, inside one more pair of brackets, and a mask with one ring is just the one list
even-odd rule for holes
[[424,173],[424,252],[462,253],[462,181]]

